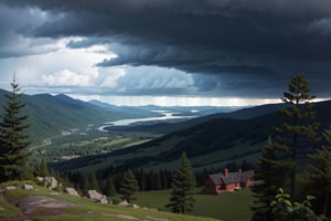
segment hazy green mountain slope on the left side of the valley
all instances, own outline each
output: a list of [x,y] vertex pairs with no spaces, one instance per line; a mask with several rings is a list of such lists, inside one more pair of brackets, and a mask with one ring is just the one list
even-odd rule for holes
[[[4,93],[6,91],[0,90],[0,106],[6,103]],[[137,109],[131,113],[122,112],[121,107],[105,109],[63,94],[56,96],[50,94],[23,95],[22,102],[26,104],[24,112],[30,115],[29,122],[32,123],[30,134],[34,140],[61,135],[62,130],[86,129],[92,124],[98,125],[108,120],[157,115],[148,110]]]

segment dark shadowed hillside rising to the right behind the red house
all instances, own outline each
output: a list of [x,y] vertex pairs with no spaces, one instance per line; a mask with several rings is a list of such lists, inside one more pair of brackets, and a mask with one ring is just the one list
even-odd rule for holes
[[[270,108],[270,106],[265,107]],[[317,122],[321,123],[321,129],[329,127],[331,102],[318,103],[316,110]],[[58,170],[79,169],[81,171],[94,171],[121,164],[131,168],[173,168],[182,151],[186,152],[192,167],[197,170],[222,167],[232,162],[256,164],[263,144],[269,135],[273,135],[274,127],[281,124],[282,117],[276,112],[265,114],[268,110],[264,107],[238,112],[239,114],[236,113],[236,117],[233,118],[212,117],[210,120],[170,133],[142,145],[106,155],[58,162],[53,167]],[[248,118],[247,113],[250,113],[253,117]],[[263,113],[263,115],[258,116],[253,113]]]

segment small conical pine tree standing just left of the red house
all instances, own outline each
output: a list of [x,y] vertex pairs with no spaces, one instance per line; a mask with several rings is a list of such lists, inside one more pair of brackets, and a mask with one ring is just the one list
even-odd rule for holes
[[178,169],[172,176],[171,186],[170,202],[166,207],[175,213],[193,211],[196,181],[185,152],[182,154]]

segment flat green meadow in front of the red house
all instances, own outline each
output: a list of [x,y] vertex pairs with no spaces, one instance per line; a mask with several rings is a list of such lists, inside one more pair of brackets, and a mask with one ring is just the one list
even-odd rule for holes
[[[136,197],[136,203],[141,207],[169,211],[164,206],[169,202],[170,190],[139,192]],[[252,203],[253,193],[249,189],[221,196],[196,194],[195,209],[190,214],[225,221],[248,221],[252,217]]]

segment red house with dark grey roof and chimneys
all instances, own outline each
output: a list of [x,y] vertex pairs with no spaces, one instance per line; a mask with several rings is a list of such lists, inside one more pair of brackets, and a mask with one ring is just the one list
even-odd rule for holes
[[231,192],[236,189],[246,188],[252,186],[254,177],[254,170],[237,172],[228,172],[224,169],[224,173],[210,175],[204,183],[204,192],[212,194],[221,194]]

